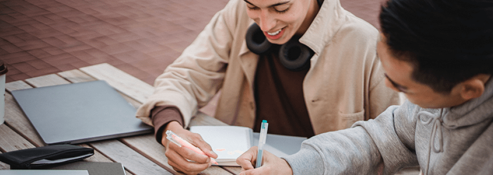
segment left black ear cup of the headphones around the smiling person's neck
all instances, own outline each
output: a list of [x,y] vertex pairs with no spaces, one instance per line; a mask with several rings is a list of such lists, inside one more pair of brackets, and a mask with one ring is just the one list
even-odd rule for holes
[[255,54],[265,53],[272,45],[272,43],[267,40],[257,23],[253,23],[250,27],[248,27],[245,40],[248,49]]

